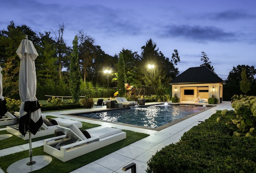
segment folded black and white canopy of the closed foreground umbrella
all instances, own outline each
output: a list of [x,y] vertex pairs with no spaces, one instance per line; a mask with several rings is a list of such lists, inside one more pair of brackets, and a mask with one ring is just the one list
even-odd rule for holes
[[35,135],[43,124],[40,104],[36,98],[35,59],[38,53],[28,39],[21,41],[16,53],[20,58],[19,93],[22,101],[19,131],[24,136],[27,131]]

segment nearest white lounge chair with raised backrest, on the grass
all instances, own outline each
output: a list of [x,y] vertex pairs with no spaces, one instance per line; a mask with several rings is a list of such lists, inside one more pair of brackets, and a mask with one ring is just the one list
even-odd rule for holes
[[63,162],[126,138],[126,132],[116,128],[93,130],[87,139],[74,124],[59,123],[56,127],[65,135],[44,140],[44,152]]

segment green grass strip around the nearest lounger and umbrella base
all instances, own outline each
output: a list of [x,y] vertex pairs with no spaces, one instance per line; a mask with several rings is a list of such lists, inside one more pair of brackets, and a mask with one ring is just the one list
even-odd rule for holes
[[[130,130],[122,130],[122,131],[126,132],[126,139],[124,139],[124,140],[118,141],[114,144],[110,144],[106,147],[102,147],[100,149],[97,149],[95,151],[92,151],[90,153],[82,155],[80,157],[76,157],[76,158],[66,161],[66,162],[62,162],[62,161],[56,159],[55,157],[52,157],[52,162],[49,165],[47,165],[46,167],[43,167],[42,169],[34,171],[34,173],[42,173],[42,172],[44,172],[44,173],[56,173],[56,172],[69,173],[69,172],[74,171],[84,165],[87,165],[88,163],[96,161],[97,159],[100,159],[110,153],[113,153],[114,151],[117,151],[118,149],[121,149],[127,145],[130,145],[130,144],[148,136],[148,134],[133,132]],[[44,152],[43,146],[33,148],[32,154],[33,155],[48,155],[47,153]],[[2,156],[2,157],[0,157],[0,160],[1,160],[0,167],[2,168],[3,171],[6,172],[7,168],[12,163],[19,161],[20,159],[24,159],[26,157],[29,157],[28,150],[10,154],[10,155],[6,155],[6,156]]]

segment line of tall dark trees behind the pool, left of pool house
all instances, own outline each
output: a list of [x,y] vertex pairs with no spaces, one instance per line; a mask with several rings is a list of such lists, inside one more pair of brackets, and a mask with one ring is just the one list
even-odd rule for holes
[[[39,54],[35,62],[38,78],[38,99],[44,98],[45,94],[70,96],[70,81],[68,79],[72,71],[70,65],[74,45],[69,47],[64,42],[64,24],[59,24],[58,30],[52,30],[52,32],[54,37],[51,36],[51,31],[37,34],[26,25],[15,26],[13,21],[7,26],[7,30],[0,31],[0,65],[3,68],[5,96],[19,98],[18,71],[20,61],[16,55],[16,49],[20,41],[25,39],[25,35],[28,35],[28,39],[34,43]],[[94,86],[106,87],[107,80],[106,74],[103,73],[104,68],[111,69],[113,72],[109,75],[109,86],[117,86],[119,55],[106,54],[99,45],[95,44],[94,38],[82,30],[78,31],[77,34],[77,48],[81,86],[88,86],[82,85],[82,83],[89,82]],[[124,48],[120,51],[124,59],[125,83],[137,87],[150,85],[156,86],[156,88],[170,88],[169,82],[178,75],[178,68],[175,68],[172,61],[158,50],[152,39],[149,39],[146,45],[141,48],[141,55]],[[176,63],[180,61],[177,50],[172,59]],[[155,65],[152,77],[150,77],[150,69],[147,68],[148,63]]]

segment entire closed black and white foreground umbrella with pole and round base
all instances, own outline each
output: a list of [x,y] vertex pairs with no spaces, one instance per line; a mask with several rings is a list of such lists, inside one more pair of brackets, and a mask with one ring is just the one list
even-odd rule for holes
[[10,165],[8,172],[31,172],[48,165],[52,161],[52,157],[47,155],[36,156],[38,161],[32,160],[32,137],[36,134],[43,124],[40,104],[36,98],[36,67],[35,59],[38,53],[32,43],[28,39],[23,39],[16,51],[20,58],[20,74],[19,74],[19,92],[20,100],[20,124],[19,131],[22,135],[29,132],[30,161],[22,159]]

